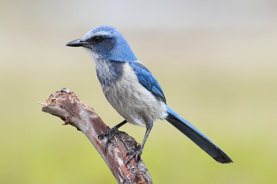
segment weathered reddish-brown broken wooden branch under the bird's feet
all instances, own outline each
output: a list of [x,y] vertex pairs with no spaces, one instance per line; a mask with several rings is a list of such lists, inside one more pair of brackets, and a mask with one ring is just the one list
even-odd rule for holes
[[39,104],[44,106],[43,112],[58,116],[64,121],[64,125],[70,124],[82,131],[104,159],[118,183],[153,183],[142,159],[136,162],[133,158],[125,165],[127,151],[134,150],[138,143],[126,133],[120,132],[112,138],[106,153],[106,137],[101,140],[97,137],[110,128],[91,107],[80,101],[69,89],[57,91],[48,97],[46,104]]

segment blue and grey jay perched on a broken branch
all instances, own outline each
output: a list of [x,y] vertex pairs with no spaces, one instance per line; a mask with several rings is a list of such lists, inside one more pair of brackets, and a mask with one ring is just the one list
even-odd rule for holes
[[96,74],[103,93],[124,121],[108,132],[105,150],[111,137],[122,125],[145,126],[146,133],[139,149],[128,151],[132,158],[141,159],[141,154],[154,121],[167,120],[175,128],[191,139],[202,150],[220,163],[233,162],[213,141],[184,120],[168,105],[162,87],[150,70],[136,58],[124,36],[114,27],[102,25],[85,34],[81,39],[66,44],[70,47],[84,47],[95,61]]

